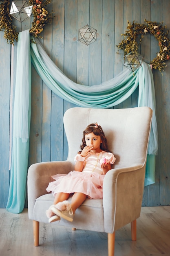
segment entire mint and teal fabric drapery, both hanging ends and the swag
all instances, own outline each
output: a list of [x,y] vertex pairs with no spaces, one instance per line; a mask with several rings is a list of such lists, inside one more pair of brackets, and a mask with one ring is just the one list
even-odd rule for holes
[[148,147],[145,185],[155,182],[155,155],[158,149],[155,113],[155,88],[150,65],[143,63],[135,74],[125,69],[118,76],[100,85],[86,86],[68,79],[51,61],[37,39],[31,43],[29,30],[18,37],[17,79],[13,110],[13,148],[11,180],[7,210],[20,213],[24,208],[26,175],[29,155],[29,127],[31,104],[31,65],[46,85],[59,97],[89,108],[110,108],[125,101],[139,86],[138,106],[153,110]]

